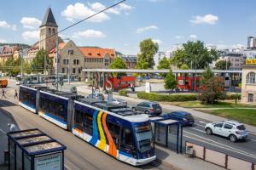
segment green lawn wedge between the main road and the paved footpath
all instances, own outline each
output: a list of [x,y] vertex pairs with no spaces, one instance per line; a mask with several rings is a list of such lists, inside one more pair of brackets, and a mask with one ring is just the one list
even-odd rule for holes
[[256,110],[254,109],[220,109],[205,112],[256,126]]

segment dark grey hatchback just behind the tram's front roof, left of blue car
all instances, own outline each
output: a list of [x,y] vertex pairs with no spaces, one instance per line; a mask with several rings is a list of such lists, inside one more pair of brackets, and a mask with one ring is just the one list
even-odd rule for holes
[[147,115],[159,116],[162,113],[161,106],[156,102],[144,101],[131,107],[132,111],[143,112]]

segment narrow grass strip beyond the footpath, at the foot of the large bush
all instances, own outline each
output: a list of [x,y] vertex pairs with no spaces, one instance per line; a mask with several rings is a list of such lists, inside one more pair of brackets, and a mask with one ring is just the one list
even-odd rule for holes
[[242,107],[242,108],[256,108],[256,105],[246,105],[234,100],[219,101],[217,104],[202,105],[200,101],[185,101],[185,102],[165,102],[165,104],[177,105],[185,108],[227,108],[227,107]]

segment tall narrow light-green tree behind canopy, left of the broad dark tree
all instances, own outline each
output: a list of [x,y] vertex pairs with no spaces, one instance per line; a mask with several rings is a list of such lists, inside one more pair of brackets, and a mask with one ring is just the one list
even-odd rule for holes
[[137,69],[149,69],[154,66],[154,54],[158,51],[158,44],[150,38],[140,42],[140,54],[137,55]]

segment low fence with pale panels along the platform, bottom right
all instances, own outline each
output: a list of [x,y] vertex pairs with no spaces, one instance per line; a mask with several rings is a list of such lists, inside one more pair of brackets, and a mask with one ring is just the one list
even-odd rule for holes
[[[207,149],[205,146],[199,144],[193,144],[191,142],[185,142],[187,147],[193,148],[193,156],[201,158],[204,161],[209,161],[220,167],[224,167],[230,170],[256,170],[256,164],[245,161],[234,156],[229,156],[217,150]],[[189,151],[186,150],[186,153]]]

